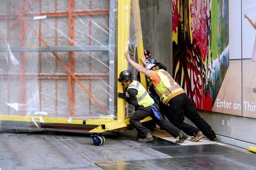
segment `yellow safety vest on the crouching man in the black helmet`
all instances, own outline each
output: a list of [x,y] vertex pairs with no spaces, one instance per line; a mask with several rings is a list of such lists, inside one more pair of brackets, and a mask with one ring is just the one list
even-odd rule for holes
[[136,95],[138,105],[149,107],[155,103],[154,100],[149,96],[149,93],[146,91],[146,89],[138,81],[133,80],[133,82],[131,82],[131,84],[128,86],[127,90],[129,88],[133,88],[138,91]]

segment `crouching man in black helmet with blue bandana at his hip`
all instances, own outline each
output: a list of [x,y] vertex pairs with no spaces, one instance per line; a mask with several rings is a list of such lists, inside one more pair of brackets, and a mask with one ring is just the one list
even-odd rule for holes
[[[154,140],[150,130],[142,126],[140,122],[150,116],[160,127],[166,130],[173,137],[177,138],[179,136],[179,140],[177,140],[176,143],[183,143],[188,138],[188,135],[163,119],[161,114],[159,114],[158,105],[155,104],[146,89],[141,83],[133,80],[132,78],[133,75],[129,70],[124,70],[120,73],[118,82],[121,82],[125,91],[124,93],[118,92],[117,97],[125,99],[127,103],[134,105],[135,107],[135,112],[131,116],[129,122],[138,131],[138,133],[143,136],[143,139],[139,139],[139,142]],[[128,96],[126,96],[126,92]]]

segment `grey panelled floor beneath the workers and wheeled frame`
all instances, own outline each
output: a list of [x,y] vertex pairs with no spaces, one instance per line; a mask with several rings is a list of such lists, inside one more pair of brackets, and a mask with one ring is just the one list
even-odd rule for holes
[[0,133],[0,170],[256,169],[256,154],[222,145],[178,145],[159,137],[138,143],[135,131],[104,136],[105,144],[94,146],[87,131]]

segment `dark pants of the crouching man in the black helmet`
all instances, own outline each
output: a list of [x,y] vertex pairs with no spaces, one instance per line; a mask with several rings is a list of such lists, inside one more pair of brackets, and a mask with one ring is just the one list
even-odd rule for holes
[[[157,108],[157,110],[159,111],[159,107],[158,107],[157,104],[154,103],[153,106],[155,108]],[[140,121],[145,119],[146,117],[150,116],[156,122],[156,124],[158,124],[161,128],[163,128],[165,131],[167,131],[170,135],[177,138],[178,135],[179,135],[179,132],[181,130],[179,130],[177,127],[175,127],[169,121],[163,119],[161,114],[159,114],[159,115],[160,115],[161,121],[158,120],[154,116],[150,107],[146,107],[146,108],[142,108],[142,109],[139,109],[139,110],[135,111],[133,116],[131,116],[129,122],[130,122],[131,125],[133,125],[133,127],[138,131],[138,133],[141,136],[145,136],[147,133],[150,132],[150,130],[145,128],[144,126],[142,126]]]

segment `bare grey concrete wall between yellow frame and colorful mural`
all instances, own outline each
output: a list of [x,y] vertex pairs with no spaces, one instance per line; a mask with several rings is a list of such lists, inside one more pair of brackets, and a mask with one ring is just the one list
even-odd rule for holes
[[172,11],[170,0],[140,0],[144,49],[172,75]]

